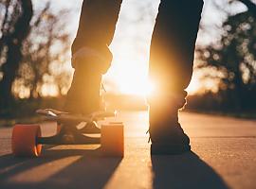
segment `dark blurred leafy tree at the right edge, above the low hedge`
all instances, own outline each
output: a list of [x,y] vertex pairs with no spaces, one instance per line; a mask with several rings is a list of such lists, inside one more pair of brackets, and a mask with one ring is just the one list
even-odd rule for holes
[[256,96],[256,5],[241,0],[247,11],[229,15],[221,40],[197,49],[198,68],[211,67],[222,73],[220,90],[234,96],[237,110],[252,108]]

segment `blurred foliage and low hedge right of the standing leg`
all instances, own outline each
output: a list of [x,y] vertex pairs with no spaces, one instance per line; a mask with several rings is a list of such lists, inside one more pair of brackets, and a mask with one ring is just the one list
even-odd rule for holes
[[[204,77],[218,80],[216,93],[205,93],[200,99],[191,97],[191,105],[216,111],[245,112],[256,109],[256,4],[241,1],[247,10],[228,17],[221,25],[219,39],[197,46],[196,69],[210,68]],[[229,5],[237,3],[228,2]],[[218,9],[227,11],[215,4]],[[204,29],[204,28],[203,28]],[[216,74],[217,73],[217,74]]]

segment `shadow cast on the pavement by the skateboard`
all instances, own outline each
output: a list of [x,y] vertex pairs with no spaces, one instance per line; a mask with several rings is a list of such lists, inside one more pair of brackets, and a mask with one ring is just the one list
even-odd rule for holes
[[0,188],[103,188],[122,160],[102,157],[99,148],[48,148],[43,154],[36,159],[0,157]]

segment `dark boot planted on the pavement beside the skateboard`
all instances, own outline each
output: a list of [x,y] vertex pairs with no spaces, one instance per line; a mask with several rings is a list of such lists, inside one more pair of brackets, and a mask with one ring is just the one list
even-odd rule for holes
[[158,96],[149,101],[152,155],[181,154],[191,150],[190,138],[178,122],[178,110],[186,103],[186,94],[179,96]]

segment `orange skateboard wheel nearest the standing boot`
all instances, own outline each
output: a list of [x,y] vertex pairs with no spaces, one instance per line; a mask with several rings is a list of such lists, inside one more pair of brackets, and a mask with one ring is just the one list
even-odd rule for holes
[[104,156],[123,157],[123,124],[109,123],[101,126],[101,150]]

